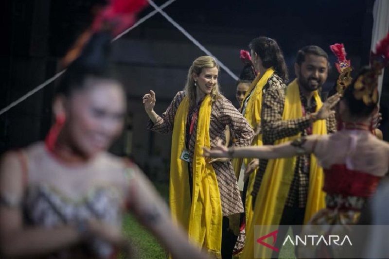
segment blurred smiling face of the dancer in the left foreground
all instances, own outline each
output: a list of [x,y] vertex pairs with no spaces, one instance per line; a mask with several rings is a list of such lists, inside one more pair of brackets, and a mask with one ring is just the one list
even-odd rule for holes
[[66,100],[64,134],[71,148],[90,157],[109,148],[122,132],[125,94],[113,80],[87,78]]

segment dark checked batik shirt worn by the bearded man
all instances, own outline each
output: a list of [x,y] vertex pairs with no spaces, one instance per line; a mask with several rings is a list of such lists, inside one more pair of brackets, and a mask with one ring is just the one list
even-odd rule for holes
[[[302,94],[300,94],[300,97],[305,116],[295,120],[283,121],[285,90],[274,88],[269,89],[269,91],[266,92],[262,104],[261,123],[263,133],[262,139],[265,145],[272,145],[278,139],[298,135],[299,133],[302,137],[311,134],[312,123],[310,121],[310,114],[315,112],[317,104],[314,98],[311,99],[311,103],[308,105],[306,97]],[[326,122],[327,132],[334,133],[336,131],[335,116],[331,116]],[[268,160],[266,159],[260,159],[258,173],[251,193],[254,197],[256,197],[261,186],[267,161]],[[285,206],[305,207],[309,187],[309,165],[310,155],[298,156],[296,167],[292,169],[294,170],[294,177]]]

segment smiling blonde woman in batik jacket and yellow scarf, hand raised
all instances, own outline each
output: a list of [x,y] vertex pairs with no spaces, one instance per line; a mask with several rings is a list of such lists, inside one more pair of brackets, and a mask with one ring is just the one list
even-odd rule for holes
[[[205,160],[202,147],[225,142],[227,125],[235,146],[248,146],[254,132],[239,111],[220,92],[219,67],[211,56],[195,59],[185,89],[159,116],[154,111],[156,94],[144,95],[149,129],[173,132],[170,165],[170,207],[173,217],[189,237],[216,258],[231,258],[234,242],[227,238],[231,219],[239,221],[242,199],[231,162]],[[223,232],[223,244],[222,244]],[[222,249],[223,247],[223,249]]]

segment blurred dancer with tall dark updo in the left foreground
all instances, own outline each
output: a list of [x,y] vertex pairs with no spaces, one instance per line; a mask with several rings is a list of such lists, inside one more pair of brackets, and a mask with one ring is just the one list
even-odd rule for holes
[[126,113],[123,86],[109,72],[111,39],[105,30],[92,34],[68,67],[46,140],[2,157],[1,258],[136,257],[121,233],[126,211],[174,258],[206,258],[172,223],[141,170],[107,153]]

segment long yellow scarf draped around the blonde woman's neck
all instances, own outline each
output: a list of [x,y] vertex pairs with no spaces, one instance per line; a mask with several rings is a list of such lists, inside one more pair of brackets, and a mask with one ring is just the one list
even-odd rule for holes
[[[202,156],[203,147],[210,147],[211,96],[202,102],[197,120],[193,157],[192,202],[189,188],[188,163],[180,159],[185,150],[186,120],[189,98],[179,104],[174,120],[170,160],[170,209],[173,219],[187,231],[190,240],[221,258],[222,207],[215,171]],[[188,255],[189,256],[189,255]]]

